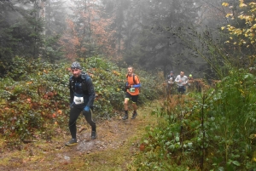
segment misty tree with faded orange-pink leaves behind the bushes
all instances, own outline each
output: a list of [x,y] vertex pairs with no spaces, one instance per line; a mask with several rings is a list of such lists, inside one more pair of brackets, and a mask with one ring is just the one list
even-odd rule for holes
[[113,31],[110,29],[111,18],[104,16],[101,3],[96,0],[73,1],[73,14],[69,15],[70,28],[63,36],[63,44],[70,46],[73,37],[76,43],[73,50],[76,52],[73,57],[86,58],[93,54],[113,54]]

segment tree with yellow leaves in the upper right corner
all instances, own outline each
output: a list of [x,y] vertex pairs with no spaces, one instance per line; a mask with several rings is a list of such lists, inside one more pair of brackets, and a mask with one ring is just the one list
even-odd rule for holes
[[226,1],[222,5],[230,9],[226,14],[230,22],[222,27],[222,30],[229,35],[225,44],[232,57],[230,60],[238,67],[253,67],[256,59],[256,3],[241,0],[239,3]]

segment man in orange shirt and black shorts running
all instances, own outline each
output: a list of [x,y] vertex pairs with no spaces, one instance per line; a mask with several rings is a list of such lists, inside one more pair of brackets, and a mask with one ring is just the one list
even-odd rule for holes
[[125,108],[125,115],[123,117],[123,120],[128,119],[128,102],[131,100],[132,102],[132,108],[133,113],[131,119],[135,119],[137,117],[137,99],[139,94],[139,88],[141,87],[140,80],[133,73],[133,67],[128,66],[127,68],[127,83],[126,83],[126,92],[125,92],[125,102],[124,102],[124,108]]

